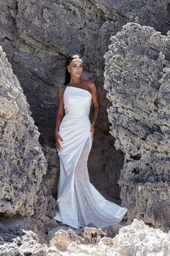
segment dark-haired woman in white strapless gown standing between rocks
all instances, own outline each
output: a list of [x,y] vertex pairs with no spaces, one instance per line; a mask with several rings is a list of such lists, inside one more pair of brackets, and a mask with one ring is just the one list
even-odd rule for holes
[[[87,160],[99,115],[99,97],[94,82],[83,80],[82,72],[80,56],[69,56],[65,85],[58,88],[55,144],[60,158],[60,177],[54,218],[75,229],[88,224],[102,228],[120,222],[127,209],[106,200],[89,181]],[[91,101],[92,122],[89,120]]]

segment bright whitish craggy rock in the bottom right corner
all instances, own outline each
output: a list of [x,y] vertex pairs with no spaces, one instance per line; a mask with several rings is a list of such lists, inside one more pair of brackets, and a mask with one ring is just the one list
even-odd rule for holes
[[117,255],[169,255],[170,233],[160,229],[151,229],[136,219],[129,226],[120,229],[120,233],[112,239]]

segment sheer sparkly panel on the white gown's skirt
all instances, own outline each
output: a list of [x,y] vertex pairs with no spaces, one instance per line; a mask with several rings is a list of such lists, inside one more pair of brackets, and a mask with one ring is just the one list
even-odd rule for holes
[[76,205],[78,210],[79,227],[92,224],[97,228],[111,226],[120,220],[104,212],[94,200],[91,194],[87,160],[91,150],[90,138],[86,140],[84,149],[75,168],[74,186],[76,193]]

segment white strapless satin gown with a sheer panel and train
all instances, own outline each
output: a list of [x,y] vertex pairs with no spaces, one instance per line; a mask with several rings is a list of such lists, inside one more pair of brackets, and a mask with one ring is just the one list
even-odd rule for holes
[[75,229],[90,223],[97,228],[119,223],[127,209],[106,200],[89,181],[91,93],[67,86],[63,101],[65,116],[58,131],[63,142],[62,148],[58,149],[60,177],[54,218]]

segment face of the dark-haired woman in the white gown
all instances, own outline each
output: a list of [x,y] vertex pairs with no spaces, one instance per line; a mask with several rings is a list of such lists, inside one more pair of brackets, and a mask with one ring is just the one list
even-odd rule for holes
[[82,59],[73,59],[67,66],[67,69],[70,69],[71,75],[73,77],[81,77],[81,74],[83,73],[83,68],[84,64]]

